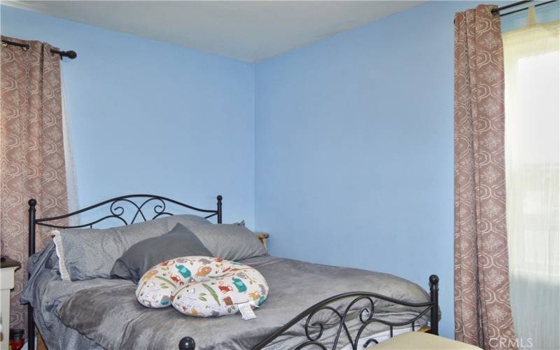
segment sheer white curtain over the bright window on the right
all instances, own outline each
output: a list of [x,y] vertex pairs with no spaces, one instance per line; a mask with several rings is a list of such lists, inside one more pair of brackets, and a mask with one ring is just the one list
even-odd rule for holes
[[503,34],[512,313],[520,348],[560,349],[560,21]]

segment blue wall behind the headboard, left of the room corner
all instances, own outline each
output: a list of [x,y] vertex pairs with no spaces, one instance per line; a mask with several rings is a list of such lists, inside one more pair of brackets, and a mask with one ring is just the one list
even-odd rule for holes
[[62,63],[80,207],[154,193],[253,225],[253,65],[1,6],[1,33]]

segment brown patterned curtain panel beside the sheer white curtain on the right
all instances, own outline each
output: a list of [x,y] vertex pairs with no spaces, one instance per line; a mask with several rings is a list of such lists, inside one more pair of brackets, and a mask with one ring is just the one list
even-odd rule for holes
[[505,227],[503,46],[492,8],[455,15],[455,337],[517,349]]

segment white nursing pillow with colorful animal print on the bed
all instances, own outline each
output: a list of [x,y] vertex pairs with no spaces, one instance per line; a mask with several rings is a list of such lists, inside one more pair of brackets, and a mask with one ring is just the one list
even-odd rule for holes
[[235,314],[238,304],[258,307],[268,295],[265,277],[253,267],[208,256],[166,260],[140,279],[136,297],[145,307],[173,307],[186,315]]

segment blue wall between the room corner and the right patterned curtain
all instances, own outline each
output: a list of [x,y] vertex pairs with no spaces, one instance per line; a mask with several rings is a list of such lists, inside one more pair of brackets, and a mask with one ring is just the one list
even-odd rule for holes
[[427,3],[255,69],[256,228],[273,255],[441,278],[453,337],[454,13]]

